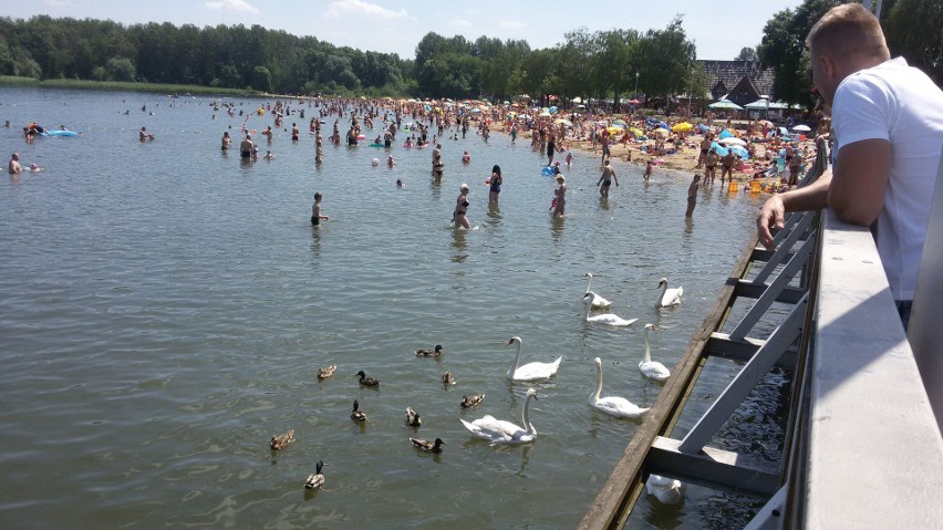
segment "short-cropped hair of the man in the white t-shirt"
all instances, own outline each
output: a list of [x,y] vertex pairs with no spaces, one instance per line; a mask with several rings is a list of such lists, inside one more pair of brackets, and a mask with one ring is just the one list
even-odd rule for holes
[[806,45],[816,53],[889,56],[881,23],[860,3],[830,9],[809,31]]

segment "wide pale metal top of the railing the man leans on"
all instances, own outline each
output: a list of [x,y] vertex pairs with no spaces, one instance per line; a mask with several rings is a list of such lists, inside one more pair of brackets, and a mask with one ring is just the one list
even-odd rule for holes
[[943,438],[871,232],[825,210],[805,528],[936,528]]

